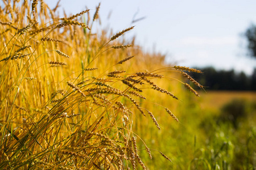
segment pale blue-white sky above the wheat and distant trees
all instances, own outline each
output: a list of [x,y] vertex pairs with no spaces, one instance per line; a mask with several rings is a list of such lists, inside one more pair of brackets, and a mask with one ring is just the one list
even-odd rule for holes
[[[50,7],[57,2],[45,1]],[[256,24],[256,1],[61,0],[60,10],[76,14],[87,6],[93,15],[99,2],[101,28],[115,33],[135,25],[125,36],[135,36],[145,51],[166,54],[167,62],[247,74],[256,68],[256,59],[247,56],[243,36]],[[132,23],[140,18],[144,19]]]

